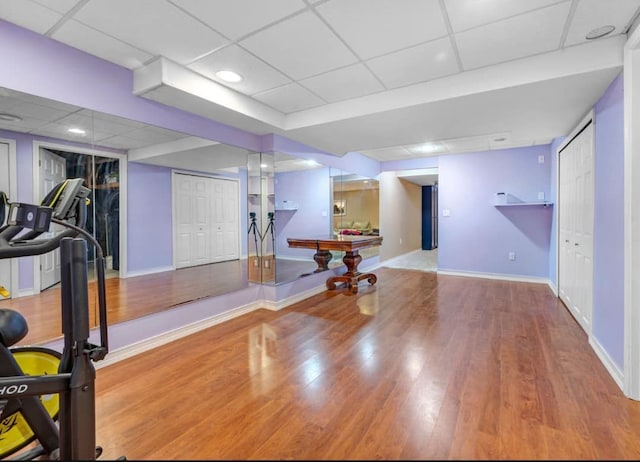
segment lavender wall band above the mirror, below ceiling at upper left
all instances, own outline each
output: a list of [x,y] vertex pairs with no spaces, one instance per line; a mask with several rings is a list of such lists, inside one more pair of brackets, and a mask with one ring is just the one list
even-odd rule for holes
[[[259,150],[258,135],[133,94],[133,73],[0,20],[0,86],[179,132]],[[7,46],[6,44],[11,44]],[[54,78],[52,78],[54,76]]]

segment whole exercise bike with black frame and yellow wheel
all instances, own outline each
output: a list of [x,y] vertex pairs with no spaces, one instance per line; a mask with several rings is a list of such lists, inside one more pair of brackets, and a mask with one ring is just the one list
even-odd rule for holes
[[[95,443],[93,362],[108,353],[105,264],[100,244],[82,229],[89,193],[79,178],[56,185],[41,205],[12,203],[0,193],[0,259],[60,248],[64,337],[62,354],[14,347],[27,335],[27,322],[0,308],[0,459],[17,453],[14,460],[94,460],[102,453]],[[38,239],[51,223],[64,230]],[[89,341],[87,242],[96,252],[100,345]]]

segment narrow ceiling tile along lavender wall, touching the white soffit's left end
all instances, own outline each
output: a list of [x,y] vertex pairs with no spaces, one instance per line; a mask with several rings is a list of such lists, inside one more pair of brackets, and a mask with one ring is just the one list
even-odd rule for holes
[[66,21],[51,38],[128,69],[140,67],[153,58],[153,55],[74,20]]

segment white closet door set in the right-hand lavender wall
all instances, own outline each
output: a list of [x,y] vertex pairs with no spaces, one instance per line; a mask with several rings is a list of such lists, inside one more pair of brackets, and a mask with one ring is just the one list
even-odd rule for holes
[[558,291],[582,328],[593,311],[594,131],[589,120],[559,152]]

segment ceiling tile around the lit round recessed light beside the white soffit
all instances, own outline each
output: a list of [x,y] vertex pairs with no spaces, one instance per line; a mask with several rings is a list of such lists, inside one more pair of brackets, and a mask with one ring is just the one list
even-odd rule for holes
[[[213,52],[187,67],[246,95],[253,95],[291,82],[291,79],[237,45],[230,45]],[[221,70],[237,72],[243,77],[242,82],[225,82],[216,76],[216,72]]]

